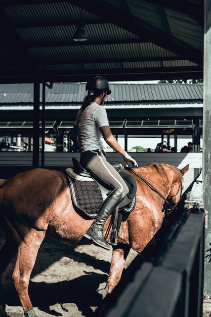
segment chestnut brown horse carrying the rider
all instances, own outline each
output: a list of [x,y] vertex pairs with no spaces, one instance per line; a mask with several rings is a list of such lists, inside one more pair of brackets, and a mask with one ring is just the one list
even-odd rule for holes
[[[141,253],[163,222],[164,201],[178,204],[183,188],[183,175],[189,165],[175,166],[152,163],[133,168],[136,184],[136,206],[121,223],[117,246],[113,246],[108,278],[108,294],[121,278],[125,259],[131,248]],[[134,172],[135,173],[134,173]],[[152,183],[155,192],[146,181]],[[0,180],[0,215],[6,242],[0,251],[0,282],[11,259],[17,254],[13,272],[14,284],[24,315],[36,316],[28,295],[30,274],[38,249],[46,234],[71,245],[86,244],[83,234],[93,219],[81,217],[73,208],[70,189],[63,172],[32,169]],[[107,220],[104,233],[110,223]],[[0,305],[0,308],[2,306]]]

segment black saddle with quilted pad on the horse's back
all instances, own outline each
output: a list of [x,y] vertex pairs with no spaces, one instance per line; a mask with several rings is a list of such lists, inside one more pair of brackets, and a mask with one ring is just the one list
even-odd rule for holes
[[[98,211],[110,194],[110,190],[97,182],[86,169],[73,157],[73,168],[67,168],[65,174],[70,187],[73,206],[89,218],[96,218]],[[119,211],[130,213],[136,204],[136,182],[121,164],[113,167],[128,185],[129,193],[119,204]]]

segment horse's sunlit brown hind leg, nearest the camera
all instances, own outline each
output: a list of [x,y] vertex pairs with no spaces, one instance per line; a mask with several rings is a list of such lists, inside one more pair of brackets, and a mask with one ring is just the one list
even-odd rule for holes
[[18,256],[13,272],[13,281],[17,290],[24,315],[36,316],[28,295],[28,285],[31,271],[34,267],[38,249],[44,240],[46,231],[30,229],[24,241],[18,246]]

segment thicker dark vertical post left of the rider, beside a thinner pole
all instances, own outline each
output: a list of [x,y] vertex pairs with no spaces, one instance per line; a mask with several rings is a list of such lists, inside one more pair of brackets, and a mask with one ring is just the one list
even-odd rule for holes
[[34,83],[34,111],[33,111],[33,167],[39,166],[39,83]]

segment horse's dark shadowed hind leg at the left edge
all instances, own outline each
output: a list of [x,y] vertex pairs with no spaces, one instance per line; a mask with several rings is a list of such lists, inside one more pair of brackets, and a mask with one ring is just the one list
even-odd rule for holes
[[12,260],[12,258],[17,253],[17,245],[15,242],[9,237],[7,237],[4,246],[0,250],[0,316],[7,316],[5,309],[1,304],[1,297],[2,297],[2,276],[4,271],[7,269],[8,264]]

